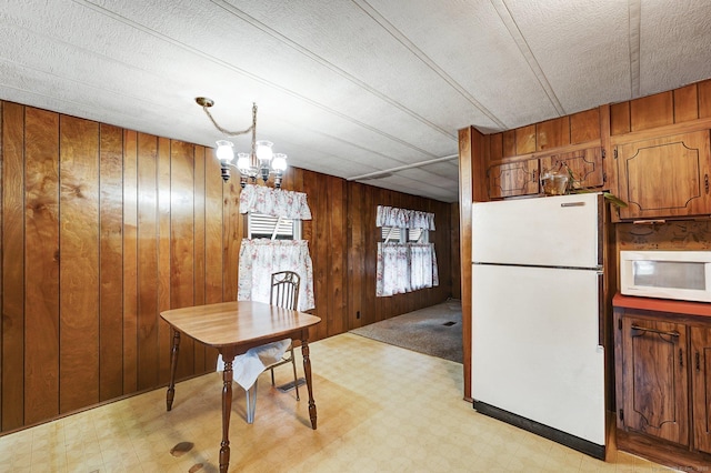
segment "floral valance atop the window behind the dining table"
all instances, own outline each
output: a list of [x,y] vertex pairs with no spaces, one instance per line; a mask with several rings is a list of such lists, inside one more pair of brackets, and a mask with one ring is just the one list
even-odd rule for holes
[[284,219],[311,220],[303,192],[247,184],[240,193],[240,213],[256,212]]

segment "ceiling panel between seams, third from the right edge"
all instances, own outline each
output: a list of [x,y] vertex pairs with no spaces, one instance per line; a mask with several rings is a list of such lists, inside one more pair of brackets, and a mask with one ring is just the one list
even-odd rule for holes
[[483,108],[497,123],[491,127],[464,113],[469,122],[462,125],[500,131],[554,113],[491,2],[375,0],[370,4],[437,64],[450,87],[459,90],[462,103],[470,110]]

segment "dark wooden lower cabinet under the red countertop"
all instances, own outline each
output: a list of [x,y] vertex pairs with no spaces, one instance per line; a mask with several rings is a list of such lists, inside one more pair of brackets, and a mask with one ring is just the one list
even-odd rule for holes
[[711,464],[711,316],[615,305],[613,323],[622,450]]

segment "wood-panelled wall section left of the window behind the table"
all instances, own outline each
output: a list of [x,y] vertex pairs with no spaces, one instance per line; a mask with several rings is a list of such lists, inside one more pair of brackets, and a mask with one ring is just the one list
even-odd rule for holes
[[[10,102],[1,117],[0,420],[10,431],[167,383],[170,333],[158,314],[222,301],[233,200],[222,202],[202,147]],[[214,353],[187,342],[181,376],[214,366]]]

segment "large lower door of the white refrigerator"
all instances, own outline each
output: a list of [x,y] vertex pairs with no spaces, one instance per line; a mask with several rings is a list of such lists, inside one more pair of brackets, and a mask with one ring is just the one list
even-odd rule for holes
[[598,276],[474,264],[473,399],[604,445]]

